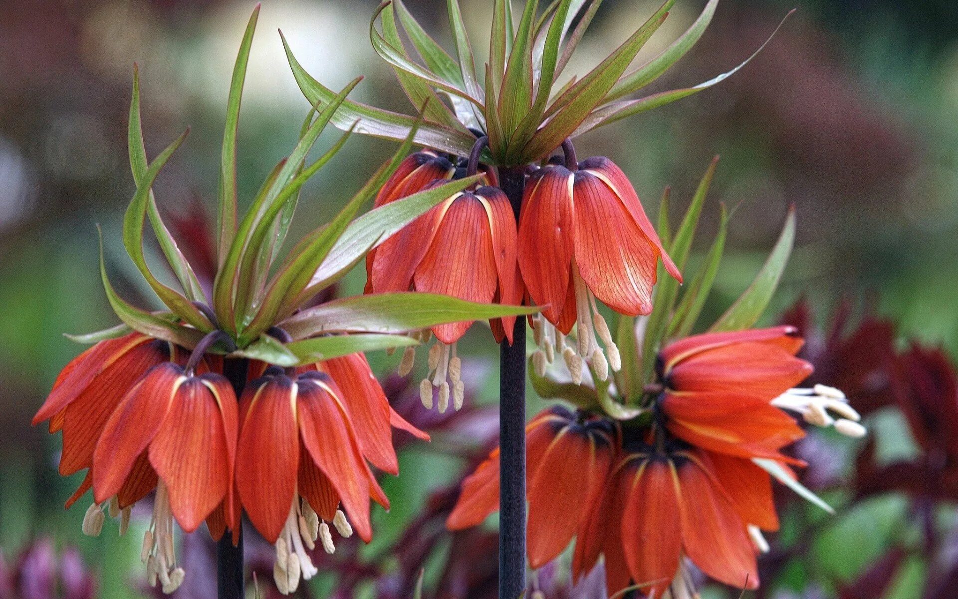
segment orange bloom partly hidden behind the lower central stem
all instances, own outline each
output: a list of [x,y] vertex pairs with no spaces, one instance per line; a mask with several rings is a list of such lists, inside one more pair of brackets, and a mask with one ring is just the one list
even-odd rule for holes
[[[616,433],[604,419],[586,418],[561,406],[541,412],[526,426],[529,488],[529,563],[556,559],[587,522],[602,494],[614,458]],[[446,526],[461,530],[499,509],[499,449],[463,483]]]

